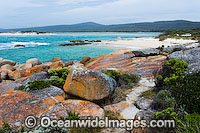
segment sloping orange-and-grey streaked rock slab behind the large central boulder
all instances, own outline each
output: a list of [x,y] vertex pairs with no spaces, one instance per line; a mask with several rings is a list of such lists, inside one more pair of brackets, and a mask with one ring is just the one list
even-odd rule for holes
[[92,70],[115,69],[121,73],[134,73],[145,78],[154,78],[154,72],[165,62],[166,56],[135,57],[129,49],[118,50],[95,58],[86,65]]

